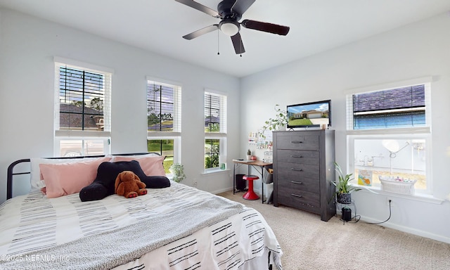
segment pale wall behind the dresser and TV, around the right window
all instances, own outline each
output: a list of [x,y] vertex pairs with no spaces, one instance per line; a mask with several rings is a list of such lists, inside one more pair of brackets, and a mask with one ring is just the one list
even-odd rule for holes
[[[345,92],[432,76],[433,193],[436,198],[446,198],[450,193],[449,33],[450,15],[445,13],[241,79],[241,98],[245,101],[241,150],[248,147],[248,133],[273,117],[275,104],[285,107],[331,99],[336,161],[346,167]],[[430,203],[390,198],[394,201],[392,217],[384,226],[450,243],[448,200]],[[384,221],[389,216],[386,195],[359,191],[354,193],[354,200],[358,214],[368,221]]]

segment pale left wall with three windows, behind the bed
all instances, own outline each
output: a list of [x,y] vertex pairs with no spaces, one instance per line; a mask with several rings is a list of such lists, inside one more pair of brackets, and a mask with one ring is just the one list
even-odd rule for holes
[[[146,34],[146,33],[143,33]],[[146,76],[183,86],[182,156],[186,184],[231,189],[231,172],[203,173],[205,88],[228,94],[229,140],[238,141],[239,79],[96,37],[63,25],[0,9],[0,203],[6,168],[14,160],[53,155],[53,56],[115,70],[112,153],[146,151]],[[228,143],[230,157],[239,153]]]

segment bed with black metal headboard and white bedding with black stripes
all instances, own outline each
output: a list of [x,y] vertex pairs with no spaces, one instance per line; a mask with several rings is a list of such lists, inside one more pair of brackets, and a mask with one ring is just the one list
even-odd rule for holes
[[[143,165],[144,156],[101,162],[126,157]],[[25,159],[8,167],[0,269],[282,269],[283,252],[264,217],[226,198],[170,181],[136,198],[82,201],[79,193],[47,198],[50,182],[47,195],[33,182],[36,174],[43,178],[37,162],[70,166],[99,158],[106,157]],[[15,178],[24,177],[30,193],[11,198]]]

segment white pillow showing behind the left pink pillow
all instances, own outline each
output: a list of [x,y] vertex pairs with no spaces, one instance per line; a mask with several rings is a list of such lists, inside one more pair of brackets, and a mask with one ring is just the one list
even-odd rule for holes
[[74,163],[82,161],[93,161],[98,158],[30,158],[30,184],[31,191],[39,191],[44,188],[45,183],[41,181],[41,169],[39,169],[39,164],[61,164],[61,163]]

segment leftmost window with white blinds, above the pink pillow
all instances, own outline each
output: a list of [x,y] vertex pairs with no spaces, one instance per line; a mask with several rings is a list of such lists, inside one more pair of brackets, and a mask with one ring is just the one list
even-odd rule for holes
[[112,72],[101,70],[55,58],[55,155],[110,153]]

